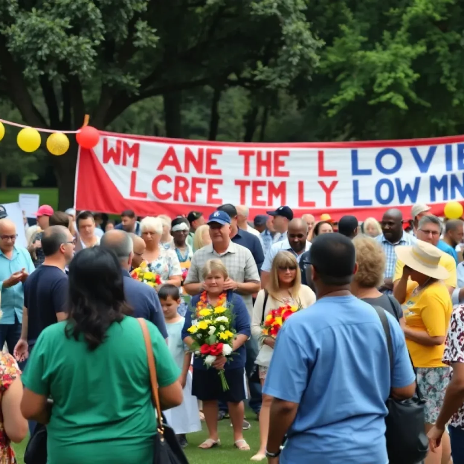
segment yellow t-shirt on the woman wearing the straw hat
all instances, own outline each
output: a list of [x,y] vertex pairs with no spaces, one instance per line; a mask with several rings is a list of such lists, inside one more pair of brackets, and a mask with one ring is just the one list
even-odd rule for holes
[[[418,283],[412,280],[407,283],[406,300],[401,305],[406,326],[427,332],[431,337],[446,336],[453,311],[448,289],[442,282],[435,282],[412,296],[417,286]],[[429,347],[406,338],[406,345],[414,367],[446,366],[441,361],[445,351],[445,342]]]

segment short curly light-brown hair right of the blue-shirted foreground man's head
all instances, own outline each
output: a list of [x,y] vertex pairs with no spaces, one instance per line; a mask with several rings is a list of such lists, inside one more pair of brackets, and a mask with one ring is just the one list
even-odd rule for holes
[[360,287],[375,288],[383,281],[385,253],[374,238],[358,235],[353,239],[358,271],[353,280]]

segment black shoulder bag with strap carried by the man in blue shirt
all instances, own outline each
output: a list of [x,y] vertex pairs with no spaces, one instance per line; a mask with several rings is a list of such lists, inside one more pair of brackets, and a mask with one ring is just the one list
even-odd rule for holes
[[[384,309],[374,306],[380,317],[387,337],[390,370],[393,368],[393,344],[390,325]],[[387,427],[387,453],[391,464],[417,464],[421,462],[428,450],[429,441],[425,434],[425,401],[416,384],[416,395],[408,400],[387,400],[388,414],[385,418]]]

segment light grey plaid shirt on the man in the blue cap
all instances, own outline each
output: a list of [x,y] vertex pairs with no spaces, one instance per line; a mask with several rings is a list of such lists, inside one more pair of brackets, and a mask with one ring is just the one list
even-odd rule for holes
[[[190,269],[188,270],[184,285],[200,283],[203,280],[203,267],[205,266],[206,261],[218,258],[224,263],[227,268],[227,272],[229,273],[229,277],[235,282],[260,282],[258,267],[251,251],[242,245],[237,245],[230,241],[227,251],[222,254],[214,251],[212,243],[195,251],[193,253]],[[242,298],[248,312],[251,315],[251,312],[253,311],[252,296],[242,295]]]

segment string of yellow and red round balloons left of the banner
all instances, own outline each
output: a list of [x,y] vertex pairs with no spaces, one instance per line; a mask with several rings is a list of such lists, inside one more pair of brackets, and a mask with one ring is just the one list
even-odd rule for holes
[[32,153],[39,149],[42,143],[41,132],[49,133],[47,137],[46,147],[47,150],[55,156],[64,155],[69,149],[69,138],[66,134],[75,134],[77,143],[82,148],[94,148],[99,139],[100,133],[98,129],[88,125],[89,115],[85,115],[84,125],[79,130],[52,130],[42,129],[36,127],[29,127],[17,122],[6,121],[0,119],[0,141],[5,136],[5,124],[9,126],[19,127],[21,130],[16,137],[16,143],[21,150],[26,153]]

